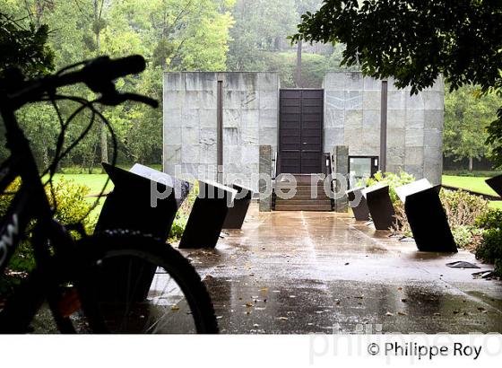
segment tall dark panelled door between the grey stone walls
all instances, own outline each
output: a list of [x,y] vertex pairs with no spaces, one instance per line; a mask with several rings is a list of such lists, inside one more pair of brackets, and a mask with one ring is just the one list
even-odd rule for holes
[[280,172],[323,172],[324,91],[281,90],[280,101]]

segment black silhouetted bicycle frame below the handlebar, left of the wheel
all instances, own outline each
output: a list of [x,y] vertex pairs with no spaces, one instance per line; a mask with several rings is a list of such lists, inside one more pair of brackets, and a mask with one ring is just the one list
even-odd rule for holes
[[[5,106],[7,100],[2,97],[4,96],[0,96],[0,112],[6,127],[7,147],[12,155],[0,169],[0,192],[4,193],[17,177],[21,177],[22,186],[14,195],[0,223],[0,275],[4,274],[5,267],[19,247],[30,222],[37,220],[37,225],[32,241],[36,270],[24,281],[25,287],[22,285],[7,300],[4,311],[0,313],[0,330],[24,332],[47,298],[58,328],[66,327],[71,332],[73,327],[69,327],[67,321],[56,311],[59,292],[48,288],[48,285],[54,285],[48,281],[61,274],[64,267],[76,267],[75,258],[71,257],[74,241],[65,228],[53,219],[53,211],[39,178],[29,141],[18,126],[13,110]],[[49,241],[54,255],[51,255]],[[33,290],[38,293],[33,294]]]

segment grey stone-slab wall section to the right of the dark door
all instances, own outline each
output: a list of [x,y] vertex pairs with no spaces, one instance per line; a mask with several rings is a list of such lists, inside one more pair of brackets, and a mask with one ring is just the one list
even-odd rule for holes
[[[381,82],[361,73],[325,76],[325,152],[348,145],[350,155],[379,156]],[[444,84],[410,96],[389,80],[387,171],[407,171],[441,183]]]

